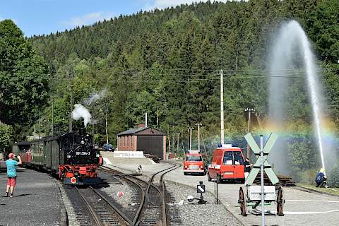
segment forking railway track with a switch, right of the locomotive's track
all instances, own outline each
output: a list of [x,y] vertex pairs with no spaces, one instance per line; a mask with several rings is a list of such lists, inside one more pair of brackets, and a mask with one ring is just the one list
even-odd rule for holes
[[[141,190],[140,202],[135,217],[131,221],[131,225],[167,225],[167,210],[166,210],[166,189],[164,175],[180,165],[172,165],[167,169],[162,169],[153,174],[148,182],[131,174],[121,174],[114,169],[102,167],[105,172],[110,172],[118,177],[129,180],[129,182],[137,184]],[[158,181],[155,177],[160,176]],[[156,183],[156,184],[155,184]]]

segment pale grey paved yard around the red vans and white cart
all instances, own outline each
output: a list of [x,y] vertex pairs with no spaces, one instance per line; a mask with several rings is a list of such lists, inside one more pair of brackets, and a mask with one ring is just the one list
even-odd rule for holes
[[[116,166],[131,170],[136,168],[136,165],[126,165],[126,163]],[[168,165],[164,163],[143,165],[143,174],[150,174],[165,167],[168,167]],[[206,189],[214,192],[214,184],[213,182],[208,182],[207,176],[184,176],[182,168],[170,172],[165,179],[189,186],[196,186],[199,181],[202,181],[206,184]],[[240,186],[242,184],[219,184],[220,201],[244,225],[261,225],[260,214],[251,211],[247,217],[240,215],[239,204],[237,204]],[[267,225],[339,225],[339,197],[300,191],[288,187],[283,188],[283,191],[286,199],[284,206],[285,216],[266,215]],[[197,194],[195,195],[198,196]],[[275,204],[266,206],[266,210],[275,210]]]

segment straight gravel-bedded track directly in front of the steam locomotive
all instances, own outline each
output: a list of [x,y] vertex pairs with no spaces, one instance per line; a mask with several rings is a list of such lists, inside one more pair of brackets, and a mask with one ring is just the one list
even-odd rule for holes
[[66,192],[80,225],[131,225],[129,218],[93,187],[73,186]]

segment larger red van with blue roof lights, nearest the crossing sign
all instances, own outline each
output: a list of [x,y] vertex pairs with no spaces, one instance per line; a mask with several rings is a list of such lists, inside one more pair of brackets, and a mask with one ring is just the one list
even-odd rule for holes
[[244,155],[242,150],[224,144],[215,149],[210,165],[208,165],[208,181],[216,179],[218,183],[222,180],[241,180],[245,182]]

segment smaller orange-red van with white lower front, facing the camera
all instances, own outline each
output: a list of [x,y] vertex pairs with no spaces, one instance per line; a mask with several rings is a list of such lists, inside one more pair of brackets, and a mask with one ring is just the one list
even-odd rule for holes
[[203,155],[199,153],[199,150],[190,150],[189,153],[185,155],[184,175],[187,174],[206,175]]

